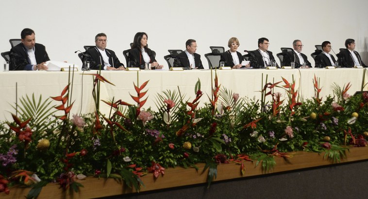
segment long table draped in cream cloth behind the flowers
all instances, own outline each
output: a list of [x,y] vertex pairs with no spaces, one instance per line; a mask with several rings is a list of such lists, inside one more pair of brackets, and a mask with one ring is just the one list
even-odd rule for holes
[[[89,113],[95,110],[92,98],[93,78],[92,75],[97,71],[75,72],[73,78],[72,101],[74,101],[73,114]],[[349,94],[361,90],[362,83],[366,84],[368,72],[366,69],[292,69],[292,70],[191,70],[191,71],[164,71],[151,70],[140,72],[128,71],[101,71],[101,75],[112,82],[115,86],[108,83],[100,84],[100,99],[122,101],[134,104],[130,94],[136,95],[134,83],[141,85],[143,82],[150,80],[146,89],[148,93],[148,101],[144,107],[155,108],[157,93],[165,90],[180,90],[184,99],[190,100],[195,98],[195,84],[198,79],[201,81],[201,91],[204,94],[201,98],[201,105],[209,102],[211,97],[211,86],[215,73],[218,75],[218,82],[221,88],[227,88],[233,92],[239,93],[241,97],[255,97],[260,99],[263,86],[268,82],[282,81],[282,77],[292,82],[294,79],[296,87],[301,97],[311,98],[314,96],[313,78],[314,75],[320,78],[322,91],[320,96],[333,95],[331,85],[336,83],[341,88],[347,83],[351,83]],[[363,76],[364,75],[364,76]],[[363,82],[363,77],[365,80]],[[38,99],[42,95],[43,100],[49,96],[58,96],[67,86],[68,72],[46,72],[46,71],[11,71],[0,72],[0,120],[12,120],[10,113],[15,113],[12,107],[15,105],[16,98],[28,95],[32,99],[34,93]],[[263,79],[263,82],[262,82]],[[17,85],[17,87],[16,87]],[[279,84],[284,85],[284,83]],[[16,92],[17,88],[17,92]],[[365,88],[367,90],[367,87]],[[275,88],[285,96],[285,90]],[[16,97],[17,96],[17,97]],[[325,98],[324,98],[325,99]],[[270,98],[268,99],[270,100]],[[19,104],[19,100],[18,100]],[[59,102],[53,101],[53,105],[60,105]],[[109,107],[104,103],[100,103],[100,111],[108,113]],[[57,114],[56,114],[57,115]]]

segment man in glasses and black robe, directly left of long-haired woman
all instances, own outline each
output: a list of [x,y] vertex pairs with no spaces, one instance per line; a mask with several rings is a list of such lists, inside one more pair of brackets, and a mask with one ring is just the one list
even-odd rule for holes
[[114,51],[106,49],[107,36],[99,33],[95,36],[95,48],[88,49],[84,61],[89,61],[92,70],[125,70],[124,64],[120,63]]

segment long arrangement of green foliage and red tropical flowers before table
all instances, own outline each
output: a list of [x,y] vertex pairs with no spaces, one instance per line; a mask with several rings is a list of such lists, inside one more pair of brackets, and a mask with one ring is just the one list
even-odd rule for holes
[[[179,88],[157,93],[153,111],[144,107],[148,81],[134,84],[132,105],[100,100],[100,83],[110,82],[92,75],[94,113],[69,116],[72,80],[59,96],[20,98],[14,121],[0,124],[0,192],[22,184],[33,187],[27,197],[35,198],[52,181],[78,192],[83,184],[75,179],[86,176],[123,180],[139,191],[147,173],[159,178],[167,167],[198,169],[196,163],[206,163],[210,184],[221,163],[238,163],[244,174],[244,161],[255,161],[267,172],[274,158],[292,157],[293,151],[324,152],[338,162],[347,145],[367,145],[368,93],[350,96],[350,84],[334,85],[334,96],[323,100],[315,77],[315,97],[301,100],[295,81],[271,83],[266,76],[261,100],[255,100],[222,88],[215,75],[209,104],[199,106],[205,96],[198,81],[193,96]],[[52,100],[60,105],[51,106]],[[99,112],[100,102],[110,114]]]

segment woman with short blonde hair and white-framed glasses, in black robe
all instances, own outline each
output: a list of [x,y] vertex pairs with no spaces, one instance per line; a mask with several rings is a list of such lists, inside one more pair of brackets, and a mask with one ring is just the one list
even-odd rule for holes
[[225,66],[230,66],[233,69],[250,67],[250,64],[247,64],[246,66],[241,65],[241,62],[244,60],[244,58],[239,52],[236,51],[239,45],[239,40],[236,37],[231,37],[227,45],[230,49],[221,54],[220,62],[225,62]]

